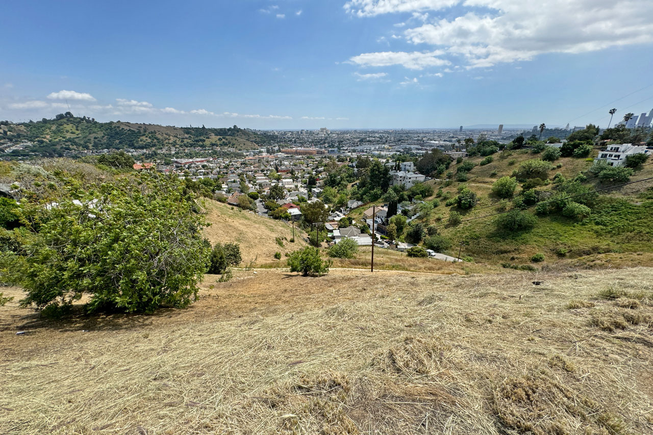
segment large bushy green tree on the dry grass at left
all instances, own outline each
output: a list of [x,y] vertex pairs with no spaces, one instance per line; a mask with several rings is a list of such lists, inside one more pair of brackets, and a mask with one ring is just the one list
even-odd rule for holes
[[197,297],[210,246],[204,217],[178,180],[140,174],[97,185],[67,180],[56,206],[25,198],[18,249],[3,255],[3,280],[22,285],[24,306],[152,312]]

